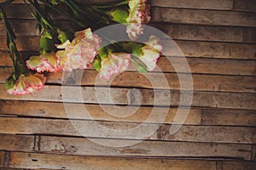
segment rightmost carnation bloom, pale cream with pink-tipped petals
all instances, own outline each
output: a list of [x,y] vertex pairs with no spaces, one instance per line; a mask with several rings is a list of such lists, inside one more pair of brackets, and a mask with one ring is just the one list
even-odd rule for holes
[[148,42],[142,48],[143,55],[138,57],[147,66],[148,71],[153,71],[156,67],[161,50],[160,40],[155,36],[149,37]]

